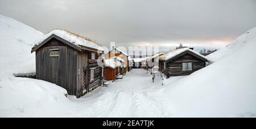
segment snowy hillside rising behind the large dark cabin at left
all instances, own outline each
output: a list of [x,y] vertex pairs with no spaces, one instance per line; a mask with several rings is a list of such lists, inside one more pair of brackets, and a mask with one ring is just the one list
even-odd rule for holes
[[0,15],[0,77],[35,72],[35,53],[30,50],[42,36],[42,32]]

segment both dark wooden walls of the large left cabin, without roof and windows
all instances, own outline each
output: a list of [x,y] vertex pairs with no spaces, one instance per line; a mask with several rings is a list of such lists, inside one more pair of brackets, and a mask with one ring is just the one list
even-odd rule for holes
[[[50,56],[51,49],[58,49],[59,56]],[[101,76],[102,67],[98,66],[97,60],[90,60],[91,53],[88,49],[77,51],[70,45],[53,38],[36,49],[36,78],[61,86],[69,95],[81,97],[103,85],[104,81],[104,77]],[[96,59],[100,55],[101,53],[96,53]],[[93,81],[89,81],[90,68],[95,68]],[[82,86],[83,73],[86,77],[85,89]]]

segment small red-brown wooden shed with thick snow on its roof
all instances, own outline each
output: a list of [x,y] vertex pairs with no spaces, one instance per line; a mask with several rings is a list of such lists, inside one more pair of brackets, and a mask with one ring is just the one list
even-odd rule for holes
[[105,63],[105,79],[115,80],[115,77],[121,73],[122,63],[116,59],[108,59]]

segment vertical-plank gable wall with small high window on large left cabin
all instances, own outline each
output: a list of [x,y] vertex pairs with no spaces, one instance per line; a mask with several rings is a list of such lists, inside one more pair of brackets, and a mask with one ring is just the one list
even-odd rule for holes
[[[50,57],[50,49],[59,49],[59,57]],[[51,39],[36,51],[36,78],[52,82],[77,94],[77,52],[75,49]]]

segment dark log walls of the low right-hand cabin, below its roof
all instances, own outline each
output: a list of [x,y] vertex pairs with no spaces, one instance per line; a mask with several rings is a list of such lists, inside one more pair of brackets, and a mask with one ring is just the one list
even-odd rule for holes
[[[159,65],[163,67],[163,62],[160,61]],[[191,62],[192,63],[192,70],[182,70],[182,63],[183,62]],[[196,70],[205,67],[205,61],[189,54],[185,53],[184,55],[177,57],[171,61],[166,61],[166,69],[163,69],[162,72],[166,74],[167,77],[170,76],[186,76],[189,75]]]

